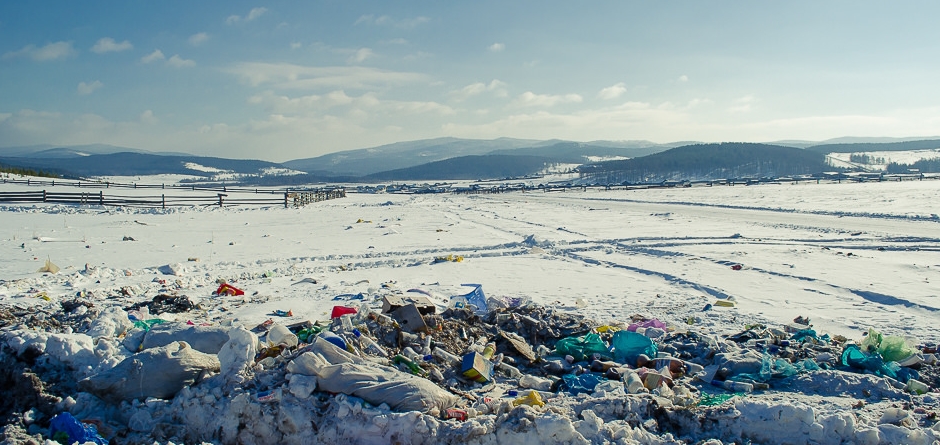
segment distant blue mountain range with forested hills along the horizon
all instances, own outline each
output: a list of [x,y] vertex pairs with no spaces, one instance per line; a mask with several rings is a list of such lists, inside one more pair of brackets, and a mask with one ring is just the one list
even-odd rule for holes
[[[598,178],[603,175],[638,180],[770,172],[798,174],[825,170],[825,155],[833,152],[933,148],[940,148],[940,138],[839,138],[823,143],[773,144],[438,138],[273,163],[157,153],[104,144],[34,145],[0,148],[0,166],[71,177],[178,174],[215,181],[300,184],[499,179],[534,175],[549,166],[565,165],[579,167],[581,172]],[[613,174],[614,171],[620,173]]]

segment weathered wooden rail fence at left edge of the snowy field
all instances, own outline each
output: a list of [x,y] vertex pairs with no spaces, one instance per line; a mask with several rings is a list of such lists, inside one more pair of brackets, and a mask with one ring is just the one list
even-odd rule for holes
[[29,192],[0,192],[0,203],[49,203],[100,205],[117,207],[194,207],[194,206],[235,206],[235,205],[283,205],[284,207],[303,207],[314,202],[346,197],[345,189],[328,190],[293,190],[280,191],[281,196],[274,198],[233,197],[228,193],[216,193],[215,196],[128,196],[105,195],[104,191],[63,193],[37,190]]

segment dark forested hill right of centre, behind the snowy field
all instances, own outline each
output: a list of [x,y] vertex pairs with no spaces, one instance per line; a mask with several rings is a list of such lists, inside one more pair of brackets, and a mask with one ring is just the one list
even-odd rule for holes
[[642,158],[583,165],[581,177],[601,183],[694,181],[788,176],[831,169],[823,153],[753,143],[697,144]]

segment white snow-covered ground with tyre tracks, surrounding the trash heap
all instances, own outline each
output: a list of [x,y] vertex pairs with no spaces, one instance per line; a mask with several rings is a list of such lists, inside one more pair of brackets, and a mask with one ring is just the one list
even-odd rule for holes
[[[278,319],[283,324],[327,320],[340,304],[337,296],[358,293],[370,301],[418,288],[443,309],[450,296],[466,292],[461,284],[478,283],[489,297],[527,297],[598,326],[628,324],[640,314],[666,322],[674,332],[721,338],[745,325],[782,329],[805,317],[819,334],[850,341],[875,329],[909,338],[912,345],[936,344],[938,198],[940,181],[924,180],[349,194],[287,209],[3,205],[0,304],[54,311],[80,296],[100,308],[126,307],[172,292],[203,309],[164,318],[250,329],[276,310],[291,311],[291,317]],[[435,261],[447,255],[463,261]],[[47,260],[61,270],[37,273]],[[316,284],[296,284],[303,279]],[[219,280],[244,289],[246,296],[213,295]],[[718,301],[735,306],[715,305]],[[703,310],[706,306],[710,310]],[[14,336],[18,344],[33,338],[26,331]],[[727,352],[724,347],[719,350]],[[92,354],[73,363],[75,378],[103,372],[128,356],[117,347]],[[267,383],[277,387],[276,381]],[[741,395],[717,408],[680,410],[688,398],[680,390],[640,396],[624,395],[621,388],[551,394],[542,408],[522,406],[466,422],[371,407],[354,397],[314,393],[304,399],[288,395],[287,384],[276,404],[206,385],[169,402],[117,406],[76,393],[75,400],[60,403],[82,417],[110,421],[112,431],[124,427],[129,432],[118,440],[139,443],[930,444],[940,439],[936,392],[911,395],[881,377],[841,371],[811,372],[784,388]],[[676,388],[686,386],[721,392],[691,379]],[[509,379],[470,392],[499,396],[517,387]],[[666,422],[653,414],[664,406],[684,414],[667,416],[672,423]],[[312,429],[313,414],[305,410],[322,411]],[[220,433],[221,419],[233,413],[257,415],[235,425],[253,432],[237,440],[231,432]],[[32,432],[43,431],[35,426]]]

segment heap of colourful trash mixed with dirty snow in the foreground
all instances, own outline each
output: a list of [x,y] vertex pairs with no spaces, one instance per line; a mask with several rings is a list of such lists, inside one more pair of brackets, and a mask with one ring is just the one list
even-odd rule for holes
[[[32,406],[3,414],[30,425],[30,434],[111,443],[462,443],[532,431],[527,440],[541,442],[789,443],[776,436],[784,433],[815,443],[940,440],[930,409],[882,415],[898,430],[748,400],[828,391],[850,393],[859,409],[884,399],[909,407],[940,387],[934,345],[875,330],[856,341],[819,335],[805,317],[724,336],[698,332],[694,317],[601,324],[466,286],[472,290],[443,302],[420,289],[383,287],[382,295],[333,307],[329,320],[272,318],[253,327],[162,320],[161,313],[197,307],[168,295],[103,310],[63,302],[59,315],[40,317],[45,332],[24,331],[17,317],[26,314],[2,308],[4,361],[20,363],[4,378],[55,375],[35,386],[41,397]],[[244,291],[223,283],[216,294]],[[840,389],[840,382],[855,383]],[[761,417],[759,408],[802,423]]]

